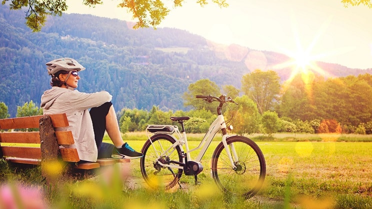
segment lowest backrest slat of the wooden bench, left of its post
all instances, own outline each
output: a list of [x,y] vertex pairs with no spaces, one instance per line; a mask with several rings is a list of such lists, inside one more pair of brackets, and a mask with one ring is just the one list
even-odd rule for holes
[[4,156],[40,159],[39,147],[1,146]]

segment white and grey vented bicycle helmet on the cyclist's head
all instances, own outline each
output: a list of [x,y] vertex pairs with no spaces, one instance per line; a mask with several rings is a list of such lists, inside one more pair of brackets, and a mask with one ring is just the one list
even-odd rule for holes
[[46,64],[46,69],[48,70],[48,73],[50,75],[54,75],[56,72],[58,72],[60,70],[81,71],[81,70],[85,69],[85,67],[83,67],[81,64],[79,64],[75,59],[68,58],[68,57],[54,59],[54,60],[51,60],[49,62],[46,62],[45,64]]

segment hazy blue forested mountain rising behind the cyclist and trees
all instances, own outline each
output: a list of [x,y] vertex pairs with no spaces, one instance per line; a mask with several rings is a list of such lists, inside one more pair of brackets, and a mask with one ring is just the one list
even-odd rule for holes
[[[10,116],[16,107],[32,100],[39,105],[50,88],[45,63],[72,57],[86,70],[80,72],[78,90],[107,90],[121,108],[185,109],[187,86],[208,78],[219,86],[240,88],[243,74],[262,66],[270,69],[289,57],[232,44],[213,44],[175,28],[131,29],[131,23],[86,14],[51,16],[40,32],[24,24],[24,11],[0,6],[0,102]],[[264,55],[264,61],[257,55]],[[318,63],[333,76],[368,72],[337,64]],[[289,68],[273,69],[285,80]]]

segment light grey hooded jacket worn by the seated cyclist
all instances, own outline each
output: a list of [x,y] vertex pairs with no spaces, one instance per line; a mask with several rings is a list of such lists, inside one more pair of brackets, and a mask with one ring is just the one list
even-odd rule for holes
[[42,94],[41,108],[44,114],[66,113],[69,126],[58,130],[71,130],[75,143],[61,146],[76,148],[80,160],[95,162],[98,151],[88,109],[110,101],[111,98],[107,91],[83,93],[53,86]]

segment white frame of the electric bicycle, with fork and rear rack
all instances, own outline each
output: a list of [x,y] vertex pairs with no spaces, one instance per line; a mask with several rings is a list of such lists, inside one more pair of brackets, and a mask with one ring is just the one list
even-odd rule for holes
[[[148,125],[148,126],[151,126],[151,125]],[[161,125],[157,125],[157,126],[161,126]],[[197,147],[193,148],[193,149],[189,149],[188,142],[187,142],[186,131],[183,131],[182,133],[180,133],[180,131],[179,131],[179,129],[178,129],[177,126],[163,125],[163,127],[166,127],[166,126],[172,126],[174,128],[174,132],[176,133],[176,135],[177,135],[178,138],[172,136],[175,139],[175,142],[170,147],[166,148],[165,150],[164,150],[163,147],[161,147],[162,152],[161,153],[156,152],[157,158],[160,158],[160,156],[162,156],[162,155],[168,155],[166,153],[169,150],[173,149],[175,146],[179,146],[180,150],[182,152],[184,152],[184,150],[183,150],[183,144],[184,144],[185,149],[186,149],[186,151],[184,153],[186,154],[187,161],[191,161],[190,153],[192,151],[195,151],[195,150],[201,148],[200,152],[195,157],[195,160],[194,161],[196,161],[196,162],[200,162],[201,158],[203,157],[203,155],[205,154],[207,148],[209,147],[211,141],[213,140],[215,134],[219,130],[226,128],[226,124],[225,124],[223,115],[222,114],[217,115],[217,118],[210,124],[207,132],[205,133],[205,135],[204,135],[203,139],[201,140],[201,142],[199,143],[199,145]],[[150,135],[147,132],[147,128],[146,128],[146,133],[147,133],[148,139],[150,140],[152,146],[154,147],[154,145],[152,143],[152,140],[150,139]],[[168,135],[172,135],[173,131],[171,133],[169,133],[169,132],[162,132],[162,133],[165,133],[165,134],[168,134]],[[156,133],[154,133],[154,134],[156,134]],[[237,154],[236,154],[235,149],[233,147],[233,144],[231,144],[230,145],[230,148],[231,148],[231,151],[233,153],[234,159],[232,158],[231,153],[230,153],[230,151],[228,149],[229,147],[228,147],[227,142],[226,142],[226,138],[227,137],[229,137],[229,135],[227,133],[222,135],[222,143],[223,143],[224,148],[226,149],[226,152],[227,152],[227,155],[229,157],[229,160],[230,160],[230,163],[231,163],[232,168],[236,168],[236,166],[234,165],[234,159],[235,159],[235,161],[238,161],[238,157],[237,157]],[[171,151],[174,151],[174,150],[175,149],[173,149]],[[165,166],[165,167],[174,167],[174,168],[183,169],[183,166],[180,166],[180,165],[163,164],[160,161],[157,161],[157,163],[159,163],[160,165]],[[182,159],[182,163],[183,164],[187,163],[185,161],[184,157]]]

